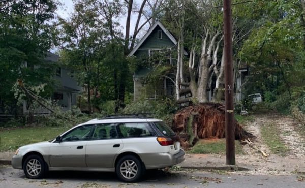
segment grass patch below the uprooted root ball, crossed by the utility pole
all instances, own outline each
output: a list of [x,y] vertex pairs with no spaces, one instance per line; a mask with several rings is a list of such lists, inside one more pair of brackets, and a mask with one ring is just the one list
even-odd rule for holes
[[[225,154],[226,139],[199,140],[195,146],[188,151],[192,154]],[[235,153],[243,154],[242,146],[238,140],[235,140]]]

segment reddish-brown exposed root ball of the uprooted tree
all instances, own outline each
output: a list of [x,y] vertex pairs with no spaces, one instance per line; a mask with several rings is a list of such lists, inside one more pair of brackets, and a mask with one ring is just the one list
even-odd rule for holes
[[[179,133],[181,145],[188,147],[199,138],[225,138],[225,106],[200,103],[188,106],[174,116],[173,130]],[[235,139],[254,137],[235,121]]]

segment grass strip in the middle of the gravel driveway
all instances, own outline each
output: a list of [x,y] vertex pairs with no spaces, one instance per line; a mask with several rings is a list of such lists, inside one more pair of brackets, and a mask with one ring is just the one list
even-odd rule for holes
[[289,149],[281,140],[279,130],[274,124],[262,126],[260,131],[264,143],[270,148],[273,154],[286,155]]

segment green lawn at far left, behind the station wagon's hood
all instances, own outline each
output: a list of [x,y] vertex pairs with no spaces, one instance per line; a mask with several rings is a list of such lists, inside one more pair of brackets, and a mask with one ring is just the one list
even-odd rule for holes
[[36,142],[48,141],[70,127],[20,127],[0,129],[0,151],[14,151],[18,147]]

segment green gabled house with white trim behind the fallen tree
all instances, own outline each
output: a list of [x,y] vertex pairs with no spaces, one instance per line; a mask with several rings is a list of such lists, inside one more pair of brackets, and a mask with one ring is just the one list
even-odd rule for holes
[[[144,37],[139,41],[135,48],[130,52],[128,56],[136,56],[138,59],[149,59],[150,57],[163,53],[167,58],[167,63],[176,66],[177,57],[172,56],[172,52],[176,50],[177,40],[174,36],[167,30],[164,25],[157,21]],[[185,52],[187,54],[187,52]],[[134,101],[140,97],[140,93],[145,86],[145,77],[151,72],[154,65],[158,61],[149,62],[148,65],[141,67],[139,70],[134,72]],[[158,92],[156,89],[146,90],[147,98],[156,98],[160,90],[162,90],[165,95],[175,95],[175,72],[172,71],[163,77],[160,77],[160,83],[158,83]]]

